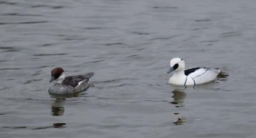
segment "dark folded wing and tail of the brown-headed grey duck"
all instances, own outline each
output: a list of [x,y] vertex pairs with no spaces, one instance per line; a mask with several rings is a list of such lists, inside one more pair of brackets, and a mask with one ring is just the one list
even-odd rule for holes
[[63,80],[62,84],[65,85],[70,85],[72,87],[77,87],[79,84],[81,84],[82,82],[88,82],[89,79],[91,78],[91,76],[93,76],[94,73],[87,73],[85,75],[76,75],[76,76],[67,76],[65,77],[65,79]]

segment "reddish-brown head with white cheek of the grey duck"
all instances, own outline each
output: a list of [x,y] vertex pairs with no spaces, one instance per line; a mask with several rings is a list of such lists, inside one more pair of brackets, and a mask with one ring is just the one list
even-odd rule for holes
[[62,83],[62,81],[65,79],[65,73],[62,68],[55,68],[51,72],[52,77],[49,82],[56,81],[57,83]]

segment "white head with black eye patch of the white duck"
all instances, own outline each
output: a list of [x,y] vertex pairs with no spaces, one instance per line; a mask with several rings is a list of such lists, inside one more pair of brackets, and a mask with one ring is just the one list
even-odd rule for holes
[[170,68],[167,73],[171,73],[172,71],[181,71],[185,70],[185,62],[180,58],[173,58],[170,61]]

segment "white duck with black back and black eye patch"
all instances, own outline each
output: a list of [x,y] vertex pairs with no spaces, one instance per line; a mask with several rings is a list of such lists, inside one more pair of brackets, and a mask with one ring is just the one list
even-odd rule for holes
[[180,58],[173,58],[170,61],[170,68],[167,73],[174,71],[168,83],[176,85],[196,85],[215,80],[221,68],[194,67],[185,70],[185,62]]

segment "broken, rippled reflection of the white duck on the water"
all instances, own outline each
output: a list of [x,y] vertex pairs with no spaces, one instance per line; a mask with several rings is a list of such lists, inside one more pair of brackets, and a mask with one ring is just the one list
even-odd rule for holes
[[[171,101],[169,103],[174,104],[175,107],[178,107],[178,108],[185,107],[185,104],[183,104],[186,97],[186,93],[184,89],[174,89],[172,93],[174,93],[174,95],[172,96],[174,101]],[[185,118],[184,116],[181,116],[180,113],[174,113],[174,115],[176,116],[176,120],[174,120],[174,124],[176,125],[188,124],[187,118]]]

